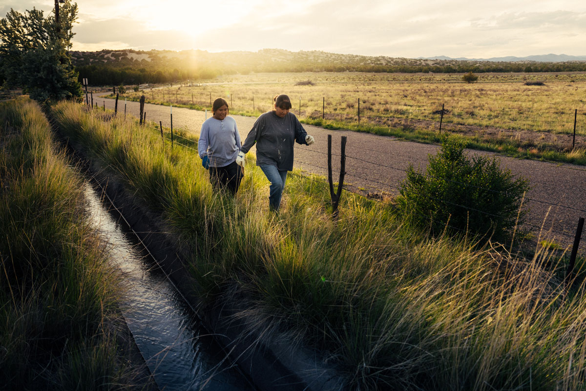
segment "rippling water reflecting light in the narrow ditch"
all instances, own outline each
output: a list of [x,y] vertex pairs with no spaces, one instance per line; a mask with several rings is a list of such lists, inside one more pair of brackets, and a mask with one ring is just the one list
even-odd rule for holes
[[109,240],[112,261],[124,272],[128,289],[124,317],[159,389],[254,390],[196,314],[156,267],[90,183],[85,184],[89,215]]

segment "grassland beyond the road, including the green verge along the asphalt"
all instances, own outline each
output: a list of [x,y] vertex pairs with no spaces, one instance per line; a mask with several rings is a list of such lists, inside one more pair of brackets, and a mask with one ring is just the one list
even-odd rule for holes
[[292,112],[307,124],[438,142],[441,120],[442,132],[462,137],[468,148],[586,164],[586,73],[476,76],[469,84],[461,74],[251,74],[190,87],[127,89],[121,98],[138,101],[144,94],[147,103],[210,110],[212,97],[224,97],[231,114],[258,116],[285,91]]

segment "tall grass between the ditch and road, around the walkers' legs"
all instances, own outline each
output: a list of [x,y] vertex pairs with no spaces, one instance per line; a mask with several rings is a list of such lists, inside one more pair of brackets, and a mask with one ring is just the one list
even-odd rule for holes
[[163,144],[155,127],[104,123],[69,103],[53,113],[165,226],[202,306],[237,300],[235,316],[251,329],[314,348],[347,389],[584,388],[584,286],[564,289],[553,250],[531,259],[494,243],[473,250],[347,194],[333,222],[326,183],[300,172],[275,215],[250,162],[232,199],[212,191],[195,153]]

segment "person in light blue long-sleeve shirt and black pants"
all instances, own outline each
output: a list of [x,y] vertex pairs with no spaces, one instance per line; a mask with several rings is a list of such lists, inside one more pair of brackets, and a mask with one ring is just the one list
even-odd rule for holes
[[218,190],[228,189],[236,195],[244,176],[236,164],[240,152],[240,134],[236,121],[228,115],[228,103],[223,98],[214,100],[213,116],[202,124],[197,152],[202,165],[210,171],[210,183]]

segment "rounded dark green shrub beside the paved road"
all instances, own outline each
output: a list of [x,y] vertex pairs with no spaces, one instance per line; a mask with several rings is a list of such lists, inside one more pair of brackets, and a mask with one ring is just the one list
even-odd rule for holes
[[492,234],[506,239],[523,220],[520,206],[529,182],[515,179],[510,170],[500,169],[496,158],[468,159],[464,144],[444,137],[441,150],[430,155],[427,172],[407,170],[401,183],[398,206],[420,226],[430,225],[441,233]]

